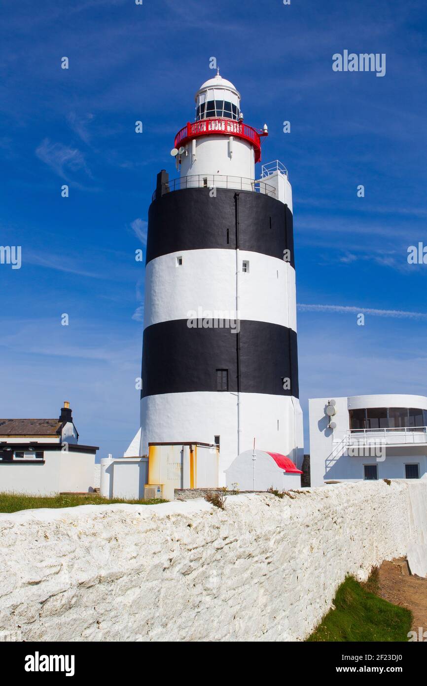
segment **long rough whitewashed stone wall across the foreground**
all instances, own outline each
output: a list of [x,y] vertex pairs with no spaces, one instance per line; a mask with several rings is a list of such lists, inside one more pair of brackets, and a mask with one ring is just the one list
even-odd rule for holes
[[347,574],[423,542],[424,482],[0,514],[0,631],[25,641],[301,641]]

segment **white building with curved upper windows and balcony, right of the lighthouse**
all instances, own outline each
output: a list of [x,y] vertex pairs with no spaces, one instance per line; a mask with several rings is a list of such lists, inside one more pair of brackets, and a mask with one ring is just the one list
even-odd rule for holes
[[358,395],[308,401],[311,486],[427,478],[427,398]]

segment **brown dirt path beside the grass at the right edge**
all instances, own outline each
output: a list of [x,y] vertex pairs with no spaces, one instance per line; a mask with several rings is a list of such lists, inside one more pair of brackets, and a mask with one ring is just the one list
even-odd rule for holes
[[383,562],[379,573],[378,595],[413,613],[413,631],[427,631],[427,579],[411,576],[404,560]]

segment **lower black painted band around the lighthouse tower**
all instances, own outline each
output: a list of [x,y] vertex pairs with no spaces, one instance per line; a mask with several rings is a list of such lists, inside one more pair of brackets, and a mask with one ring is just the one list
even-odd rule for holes
[[[141,397],[216,391],[217,370],[228,370],[237,391],[236,333],[188,328],[186,319],[151,324],[144,331]],[[240,322],[241,392],[299,396],[297,334],[269,322]],[[284,389],[282,379],[291,379]]]

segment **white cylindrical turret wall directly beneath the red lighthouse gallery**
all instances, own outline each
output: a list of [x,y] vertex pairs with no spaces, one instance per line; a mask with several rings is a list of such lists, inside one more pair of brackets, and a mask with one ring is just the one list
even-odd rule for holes
[[[181,157],[180,176],[221,174],[234,176],[239,179],[239,183],[242,177],[255,178],[254,148],[247,141],[234,136],[231,154],[230,135],[211,134],[197,138],[195,141],[195,160],[193,161],[193,145],[190,141],[186,145],[187,154],[184,153]],[[238,184],[231,187],[239,188],[240,186]]]

